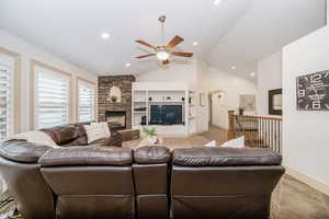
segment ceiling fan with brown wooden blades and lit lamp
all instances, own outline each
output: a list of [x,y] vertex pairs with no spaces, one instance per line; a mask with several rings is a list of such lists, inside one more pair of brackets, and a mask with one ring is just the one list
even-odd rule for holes
[[181,57],[186,57],[191,58],[193,56],[192,53],[183,53],[183,51],[175,51],[173,48],[182,43],[184,39],[178,35],[175,35],[167,45],[164,45],[164,22],[166,22],[166,16],[162,15],[159,18],[159,22],[162,25],[162,44],[163,46],[152,46],[144,41],[135,41],[137,44],[141,44],[144,46],[147,46],[149,48],[152,48],[155,51],[146,55],[138,56],[136,58],[146,58],[150,56],[156,56],[160,61],[162,61],[163,65],[169,64],[169,57],[170,56],[181,56]]

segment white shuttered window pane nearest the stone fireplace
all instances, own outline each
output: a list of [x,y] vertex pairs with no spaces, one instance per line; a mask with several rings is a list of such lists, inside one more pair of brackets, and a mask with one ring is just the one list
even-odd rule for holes
[[78,120],[92,122],[95,119],[95,85],[78,80]]

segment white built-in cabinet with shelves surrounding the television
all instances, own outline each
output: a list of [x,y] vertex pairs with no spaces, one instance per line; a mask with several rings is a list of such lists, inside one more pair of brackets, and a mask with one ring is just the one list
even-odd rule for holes
[[[162,136],[188,136],[196,131],[195,94],[188,84],[134,82],[132,92],[133,128],[155,127],[157,134]],[[182,105],[183,124],[150,125],[150,105],[152,104]],[[145,125],[141,125],[143,120]]]

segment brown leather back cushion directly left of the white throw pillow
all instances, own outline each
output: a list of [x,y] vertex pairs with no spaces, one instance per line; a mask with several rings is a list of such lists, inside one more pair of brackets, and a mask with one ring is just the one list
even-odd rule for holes
[[75,125],[56,126],[41,130],[49,135],[58,146],[73,141],[80,134]]

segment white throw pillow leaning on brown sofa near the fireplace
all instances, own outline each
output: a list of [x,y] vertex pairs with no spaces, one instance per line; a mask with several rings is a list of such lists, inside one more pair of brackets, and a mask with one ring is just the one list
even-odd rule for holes
[[103,139],[103,138],[110,138],[111,132],[107,123],[92,123],[90,125],[83,126],[86,129],[88,143]]

